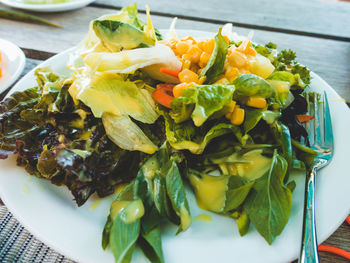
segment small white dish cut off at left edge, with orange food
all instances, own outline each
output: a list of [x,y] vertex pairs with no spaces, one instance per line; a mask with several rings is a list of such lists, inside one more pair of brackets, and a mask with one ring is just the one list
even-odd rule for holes
[[10,87],[24,69],[26,58],[23,51],[15,44],[0,39],[1,61],[0,68],[2,76],[0,77],[0,92]]

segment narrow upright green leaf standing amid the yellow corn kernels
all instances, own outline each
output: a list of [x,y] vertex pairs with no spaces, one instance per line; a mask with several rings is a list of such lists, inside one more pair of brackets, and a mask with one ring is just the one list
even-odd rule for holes
[[215,36],[215,47],[207,65],[201,71],[199,77],[205,76],[205,84],[212,84],[224,70],[228,45],[221,35],[221,28]]

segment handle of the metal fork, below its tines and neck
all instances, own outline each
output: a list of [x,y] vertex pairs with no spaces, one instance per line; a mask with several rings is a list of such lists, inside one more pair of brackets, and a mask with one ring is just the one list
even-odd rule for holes
[[315,223],[315,176],[316,167],[313,167],[305,181],[303,235],[299,263],[319,262]]

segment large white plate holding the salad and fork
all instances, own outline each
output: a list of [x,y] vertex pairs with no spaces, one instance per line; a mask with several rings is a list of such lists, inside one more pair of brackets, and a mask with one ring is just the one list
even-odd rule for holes
[[[196,31],[188,34],[208,35]],[[40,66],[51,66],[56,72],[69,74],[65,64],[71,51],[72,49],[60,53]],[[350,212],[350,111],[325,81],[314,73],[312,77],[312,88],[325,90],[329,96],[335,136],[334,159],[317,176],[317,233],[321,243],[339,227]],[[31,71],[13,91],[33,85],[35,80]],[[101,233],[111,198],[102,200],[96,209],[91,209],[95,200],[89,200],[78,208],[66,188],[28,176],[22,168],[15,165],[13,157],[0,161],[0,173],[2,200],[37,238],[78,262],[114,262],[112,253],[101,248]],[[240,237],[234,220],[200,210],[195,204],[193,194],[189,193],[192,216],[209,214],[212,222],[195,220],[188,231],[178,236],[175,236],[175,226],[170,223],[164,225],[162,238],[165,261],[271,263],[296,259],[301,240],[304,176],[294,175],[294,179],[297,187],[293,192],[291,217],[283,233],[272,245],[268,245],[253,227],[246,236]],[[147,262],[140,251],[134,254],[133,261]]]

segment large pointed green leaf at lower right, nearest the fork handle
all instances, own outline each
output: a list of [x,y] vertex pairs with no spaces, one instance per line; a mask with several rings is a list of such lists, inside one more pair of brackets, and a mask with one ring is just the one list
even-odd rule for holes
[[292,193],[283,185],[286,171],[287,162],[275,151],[271,168],[256,180],[244,205],[250,221],[269,244],[281,234],[292,209]]

